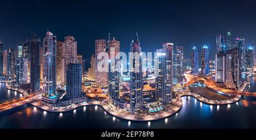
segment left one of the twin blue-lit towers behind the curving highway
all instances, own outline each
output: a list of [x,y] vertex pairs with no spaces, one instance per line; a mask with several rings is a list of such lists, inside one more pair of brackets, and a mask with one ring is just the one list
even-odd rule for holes
[[193,46],[193,50],[191,52],[191,69],[192,73],[199,73],[199,53],[196,46]]

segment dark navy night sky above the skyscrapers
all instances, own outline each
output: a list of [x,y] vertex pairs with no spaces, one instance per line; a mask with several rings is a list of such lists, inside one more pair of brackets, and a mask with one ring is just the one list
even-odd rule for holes
[[121,41],[127,52],[136,32],[144,52],[163,43],[184,46],[191,58],[192,46],[208,45],[214,57],[217,33],[244,35],[246,46],[256,41],[256,2],[243,1],[1,1],[0,41],[4,49],[35,32],[40,39],[49,29],[57,40],[74,36],[78,52],[86,59],[94,53],[96,39],[108,33]]

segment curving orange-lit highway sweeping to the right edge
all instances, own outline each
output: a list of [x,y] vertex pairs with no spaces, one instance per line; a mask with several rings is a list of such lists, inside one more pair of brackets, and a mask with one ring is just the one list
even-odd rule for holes
[[185,86],[189,86],[190,84],[198,81],[203,81],[205,83],[205,86],[222,95],[256,96],[256,92],[242,92],[242,91],[235,91],[235,90],[218,87],[216,82],[211,80],[209,76],[205,77],[204,75],[192,74],[192,73],[184,73],[184,76],[188,81],[187,83],[184,84]]

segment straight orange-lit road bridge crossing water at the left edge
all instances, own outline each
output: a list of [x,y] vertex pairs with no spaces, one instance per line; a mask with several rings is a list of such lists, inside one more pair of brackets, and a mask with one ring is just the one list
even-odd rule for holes
[[8,101],[6,103],[0,104],[0,112],[6,111],[11,108],[19,107],[20,105],[29,103],[30,101],[39,100],[42,97],[42,92],[37,92],[34,94],[27,95],[25,97],[20,97],[17,100]]

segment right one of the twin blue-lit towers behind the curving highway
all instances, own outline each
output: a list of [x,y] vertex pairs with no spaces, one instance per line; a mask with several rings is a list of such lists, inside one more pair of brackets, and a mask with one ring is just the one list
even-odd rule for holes
[[201,73],[204,75],[209,74],[209,50],[207,45],[203,46],[201,53]]

